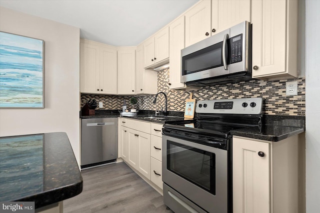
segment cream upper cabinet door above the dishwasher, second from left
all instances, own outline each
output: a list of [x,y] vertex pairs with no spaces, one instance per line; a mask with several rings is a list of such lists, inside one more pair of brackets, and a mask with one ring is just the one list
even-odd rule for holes
[[116,49],[100,47],[100,93],[116,94]]

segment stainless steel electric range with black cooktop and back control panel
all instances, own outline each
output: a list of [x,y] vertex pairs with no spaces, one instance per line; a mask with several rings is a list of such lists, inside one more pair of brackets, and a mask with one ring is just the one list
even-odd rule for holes
[[164,204],[175,213],[232,212],[231,130],[259,127],[262,98],[198,101],[196,118],[162,128]]

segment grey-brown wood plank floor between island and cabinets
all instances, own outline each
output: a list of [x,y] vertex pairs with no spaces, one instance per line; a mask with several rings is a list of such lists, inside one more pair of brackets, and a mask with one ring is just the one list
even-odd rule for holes
[[172,213],[162,196],[123,162],[81,174],[82,193],[63,201],[63,213]]

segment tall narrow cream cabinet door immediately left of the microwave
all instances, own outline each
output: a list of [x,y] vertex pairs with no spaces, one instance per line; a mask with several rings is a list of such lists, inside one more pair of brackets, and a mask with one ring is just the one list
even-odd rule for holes
[[170,75],[169,88],[185,88],[185,84],[180,82],[181,75],[181,49],[184,48],[184,17],[180,17],[169,25],[170,29]]

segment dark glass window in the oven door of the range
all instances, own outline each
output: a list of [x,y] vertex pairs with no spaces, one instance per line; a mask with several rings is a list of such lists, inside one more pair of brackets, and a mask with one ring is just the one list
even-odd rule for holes
[[167,169],[215,195],[215,155],[167,141]]

